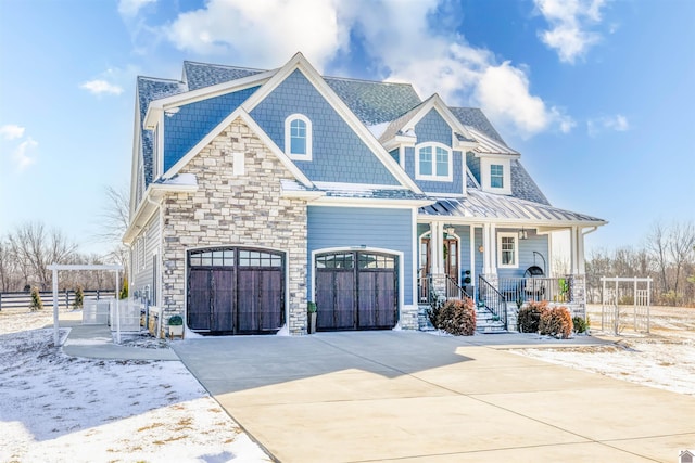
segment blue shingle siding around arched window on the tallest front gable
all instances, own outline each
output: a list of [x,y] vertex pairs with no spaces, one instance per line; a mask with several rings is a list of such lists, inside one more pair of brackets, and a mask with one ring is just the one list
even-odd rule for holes
[[400,184],[300,70],[270,92],[251,116],[285,151],[285,119],[294,113],[312,120],[313,159],[294,160],[311,180]]

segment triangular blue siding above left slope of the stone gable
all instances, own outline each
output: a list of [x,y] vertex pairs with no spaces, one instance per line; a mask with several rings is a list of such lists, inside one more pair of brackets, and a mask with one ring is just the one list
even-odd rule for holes
[[229,116],[258,87],[181,106],[164,116],[164,171],[174,166],[198,142]]

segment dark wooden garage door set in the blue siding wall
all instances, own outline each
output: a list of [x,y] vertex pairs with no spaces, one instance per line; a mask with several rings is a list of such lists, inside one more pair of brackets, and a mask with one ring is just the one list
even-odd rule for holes
[[368,252],[316,257],[316,327],[392,329],[399,307],[397,257]]

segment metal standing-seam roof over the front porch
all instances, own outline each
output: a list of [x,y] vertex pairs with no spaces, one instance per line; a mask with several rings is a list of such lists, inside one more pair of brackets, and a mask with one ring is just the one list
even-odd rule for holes
[[482,219],[482,221],[510,221],[544,226],[585,224],[589,227],[607,223],[603,219],[585,214],[572,213],[545,204],[532,203],[513,196],[468,190],[466,197],[440,198],[431,206],[420,207],[420,216]]

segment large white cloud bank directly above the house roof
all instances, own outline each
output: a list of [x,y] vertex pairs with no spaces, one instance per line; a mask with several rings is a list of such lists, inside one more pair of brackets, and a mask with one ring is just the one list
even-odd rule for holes
[[456,33],[455,24],[431,24],[442,5],[441,0],[211,0],[179,14],[162,34],[180,50],[235,56],[235,64],[261,68],[277,67],[302,51],[319,72],[350,52],[357,38],[377,78],[410,82],[422,98],[438,92],[450,105],[478,104],[493,123],[525,138],[571,130],[569,116],[531,93],[525,68],[498,64],[494,53]]

